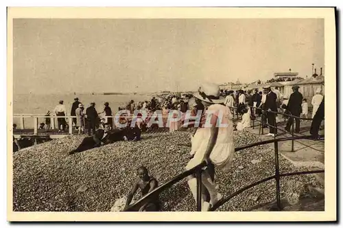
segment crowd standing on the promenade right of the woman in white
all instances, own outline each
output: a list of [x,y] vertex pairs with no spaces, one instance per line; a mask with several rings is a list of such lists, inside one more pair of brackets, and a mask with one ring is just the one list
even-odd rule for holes
[[[224,104],[229,107],[230,111],[234,114],[241,115],[241,122],[237,124],[237,130],[243,130],[250,127],[251,119],[261,116],[263,128],[269,126],[270,132],[266,136],[274,137],[276,135],[276,123],[281,122],[283,116],[287,119],[285,130],[290,131],[294,119],[296,122],[295,133],[300,132],[300,119],[289,117],[293,115],[296,117],[305,118],[306,122],[309,119],[309,105],[307,100],[298,91],[299,87],[294,85],[292,87],[293,93],[289,99],[284,98],[282,93],[277,87],[272,89],[270,86],[263,87],[263,91],[257,89],[253,91],[221,91],[226,96]],[[312,119],[316,115],[320,104],[323,102],[323,95],[321,89],[316,90],[316,95],[311,100],[313,106]],[[274,112],[274,113],[273,113]],[[283,113],[282,114],[276,114]]]

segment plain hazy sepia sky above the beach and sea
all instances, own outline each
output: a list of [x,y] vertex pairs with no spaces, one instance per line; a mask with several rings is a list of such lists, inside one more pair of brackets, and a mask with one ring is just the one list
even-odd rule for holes
[[193,91],[324,68],[323,19],[14,19],[14,94]]

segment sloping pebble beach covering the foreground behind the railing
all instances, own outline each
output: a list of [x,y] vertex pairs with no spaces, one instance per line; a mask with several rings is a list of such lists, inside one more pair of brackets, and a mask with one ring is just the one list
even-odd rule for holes
[[[119,141],[75,155],[83,136],[71,135],[16,152],[13,156],[15,212],[109,212],[132,187],[139,166],[146,166],[159,184],[180,174],[189,161],[189,131],[145,133],[141,141]],[[259,141],[248,131],[235,132],[235,146]],[[279,156],[281,173],[298,172]],[[229,172],[216,170],[215,185],[228,196],[241,187],[274,174],[274,150],[256,146],[235,153]],[[281,179],[281,198],[296,203],[305,185],[320,185],[313,175]],[[275,182],[268,181],[235,196],[217,211],[244,211],[275,201]],[[134,201],[141,196],[137,194]],[[185,180],[160,194],[165,212],[196,211]]]

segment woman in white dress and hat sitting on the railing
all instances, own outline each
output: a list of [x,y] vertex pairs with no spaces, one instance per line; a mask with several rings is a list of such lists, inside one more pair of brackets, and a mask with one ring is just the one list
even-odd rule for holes
[[[228,106],[224,105],[224,98],[220,97],[220,88],[216,84],[203,84],[199,92],[194,94],[195,98],[201,101],[206,110],[206,119],[202,119],[202,126],[197,128],[191,138],[191,154],[194,157],[187,163],[186,170],[198,166],[202,161],[209,165],[213,164],[220,170],[228,170],[235,145],[233,142],[233,115]],[[211,123],[211,126],[209,124]],[[214,169],[213,169],[214,170]],[[202,197],[202,211],[208,211],[210,204],[215,205],[222,198],[213,184],[213,176],[208,169],[202,172],[202,184],[209,192],[210,201]],[[188,176],[189,188],[196,199],[196,178]]]

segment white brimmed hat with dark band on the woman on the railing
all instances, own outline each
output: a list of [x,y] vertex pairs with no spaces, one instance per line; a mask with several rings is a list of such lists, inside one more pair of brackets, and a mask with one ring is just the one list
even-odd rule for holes
[[225,101],[225,98],[220,96],[219,85],[212,83],[202,84],[198,89],[198,93],[194,93],[194,97],[212,104],[221,104]]

